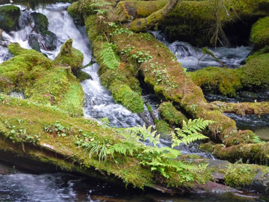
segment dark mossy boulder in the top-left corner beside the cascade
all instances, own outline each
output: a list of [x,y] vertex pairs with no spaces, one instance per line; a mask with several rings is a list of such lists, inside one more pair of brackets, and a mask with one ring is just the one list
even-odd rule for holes
[[21,11],[19,7],[1,6],[0,7],[0,29],[10,32],[16,30]]

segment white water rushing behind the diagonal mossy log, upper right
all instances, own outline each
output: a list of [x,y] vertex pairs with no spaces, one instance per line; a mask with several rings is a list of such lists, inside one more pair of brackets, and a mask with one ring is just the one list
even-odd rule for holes
[[[188,71],[197,70],[198,60],[203,55],[201,48],[193,47],[190,43],[182,41],[169,43],[166,41],[161,31],[152,31],[151,33],[158,41],[166,44],[173,54],[177,55],[177,61],[181,63],[182,67],[187,68]],[[206,48],[228,68],[233,69],[242,65],[252,49],[250,46],[240,46],[236,48],[217,47],[216,49]],[[211,56],[205,55],[200,60],[198,69],[209,66],[220,66],[220,63]]]

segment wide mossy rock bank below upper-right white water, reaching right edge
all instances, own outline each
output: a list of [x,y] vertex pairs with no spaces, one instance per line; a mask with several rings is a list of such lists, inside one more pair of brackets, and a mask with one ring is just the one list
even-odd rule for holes
[[258,90],[269,87],[269,54],[249,56],[247,64],[238,69],[207,67],[189,72],[194,83],[205,91],[236,96],[241,89]]

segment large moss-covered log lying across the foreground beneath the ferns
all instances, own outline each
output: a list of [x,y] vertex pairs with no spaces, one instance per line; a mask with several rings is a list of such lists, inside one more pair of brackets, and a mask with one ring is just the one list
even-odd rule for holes
[[[193,166],[193,169],[186,174],[191,174],[194,178],[191,180],[192,182],[182,184],[180,181],[184,181],[184,179],[180,179],[178,176],[171,176],[169,179],[158,177],[149,168],[139,164],[140,159],[136,153],[133,155],[115,154],[114,158],[107,158],[106,162],[100,160],[98,154],[91,155],[89,158],[89,151],[84,150],[84,147],[78,146],[77,143],[78,141],[93,141],[93,139],[88,139],[87,134],[100,142],[109,141],[110,145],[123,141],[123,137],[119,133],[117,134],[113,128],[100,126],[92,120],[69,118],[61,111],[37,105],[31,100],[20,100],[3,95],[0,96],[0,99],[0,159],[25,169],[37,169],[36,172],[44,172],[44,169],[46,172],[73,172],[107,182],[120,184],[125,182],[138,187],[148,186],[168,193],[214,192],[218,190],[216,188],[230,191],[229,187],[212,182],[214,173],[223,173],[227,179],[231,179],[232,176],[239,177],[242,170],[236,168],[240,166],[251,169],[251,177],[248,175],[248,180],[244,181],[243,176],[240,175],[239,183],[236,181],[234,184],[229,184],[230,181],[226,180],[227,184],[244,188],[246,184],[251,185],[252,182],[257,182],[256,178],[254,180],[256,175],[267,176],[268,174],[263,166],[237,166],[224,162],[225,165],[217,167],[215,165],[219,162],[211,161],[210,166],[206,168],[208,163],[204,160],[189,162],[188,156],[181,156],[180,161],[187,163],[189,168]],[[24,118],[21,117],[22,112]],[[60,125],[65,128],[65,135],[62,134],[63,129],[59,128]],[[57,127],[60,130],[55,130]],[[140,149],[143,150],[142,147]],[[115,160],[120,163],[116,164]],[[202,165],[206,169],[201,169]],[[231,169],[235,171],[231,173]],[[167,187],[168,184],[170,187]],[[259,187],[260,191],[267,191],[266,186]]]

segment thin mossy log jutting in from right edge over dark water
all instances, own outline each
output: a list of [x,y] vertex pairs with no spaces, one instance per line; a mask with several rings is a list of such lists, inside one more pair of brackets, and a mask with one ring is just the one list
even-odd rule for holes
[[269,114],[269,103],[224,103],[224,102],[212,102],[209,104],[212,110],[218,109],[222,113],[234,113],[244,116],[245,114],[255,114],[260,116],[261,114]]

